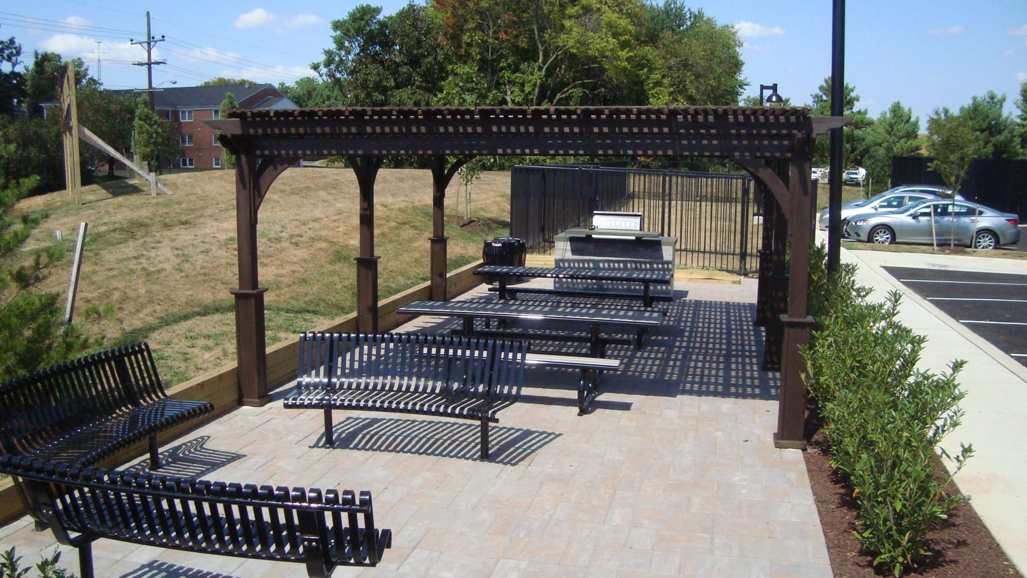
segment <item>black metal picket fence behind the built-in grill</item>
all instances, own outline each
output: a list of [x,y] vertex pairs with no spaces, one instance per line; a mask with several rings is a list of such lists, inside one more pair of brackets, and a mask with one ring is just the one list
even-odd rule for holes
[[642,213],[643,230],[678,240],[676,263],[757,269],[762,218],[748,175],[593,166],[516,166],[510,173],[510,234],[530,252],[553,252],[553,238],[588,226],[595,211]]

